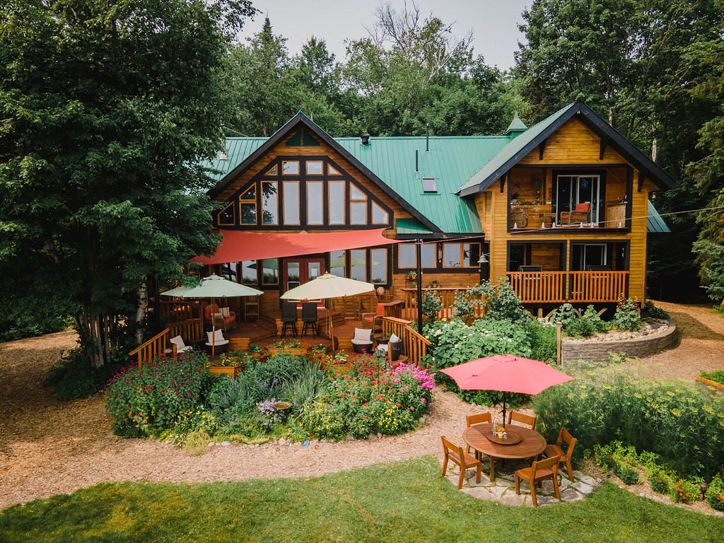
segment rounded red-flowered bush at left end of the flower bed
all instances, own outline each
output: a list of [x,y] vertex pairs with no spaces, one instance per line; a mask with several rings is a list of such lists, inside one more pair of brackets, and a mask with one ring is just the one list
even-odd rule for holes
[[104,397],[114,432],[140,437],[171,428],[181,413],[196,411],[210,381],[206,355],[193,350],[122,369]]

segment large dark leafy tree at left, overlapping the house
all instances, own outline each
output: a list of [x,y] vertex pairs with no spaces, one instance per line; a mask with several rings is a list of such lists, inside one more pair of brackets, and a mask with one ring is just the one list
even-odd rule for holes
[[[248,1],[7,0],[0,7],[0,290],[75,316],[95,367],[148,277],[209,232],[218,72]],[[5,299],[5,298],[4,298]]]

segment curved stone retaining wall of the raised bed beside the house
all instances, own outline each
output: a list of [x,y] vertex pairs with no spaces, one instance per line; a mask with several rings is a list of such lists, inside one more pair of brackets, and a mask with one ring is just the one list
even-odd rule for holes
[[577,360],[594,362],[607,361],[610,353],[625,353],[628,356],[643,358],[675,347],[678,343],[676,323],[671,319],[666,332],[662,334],[635,337],[629,340],[601,342],[597,340],[563,340],[561,359],[563,363]]

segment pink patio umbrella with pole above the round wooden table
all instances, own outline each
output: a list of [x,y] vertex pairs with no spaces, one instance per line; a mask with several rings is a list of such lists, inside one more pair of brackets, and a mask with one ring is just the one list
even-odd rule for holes
[[548,366],[547,363],[515,355],[478,358],[452,368],[440,370],[462,390],[499,390],[502,392],[502,425],[505,427],[505,394],[538,394],[555,384],[573,381],[574,377]]

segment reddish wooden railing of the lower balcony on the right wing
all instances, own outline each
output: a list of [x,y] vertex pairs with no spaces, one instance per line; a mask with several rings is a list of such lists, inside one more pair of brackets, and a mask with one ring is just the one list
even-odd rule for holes
[[611,303],[626,293],[628,271],[509,271],[523,303]]

